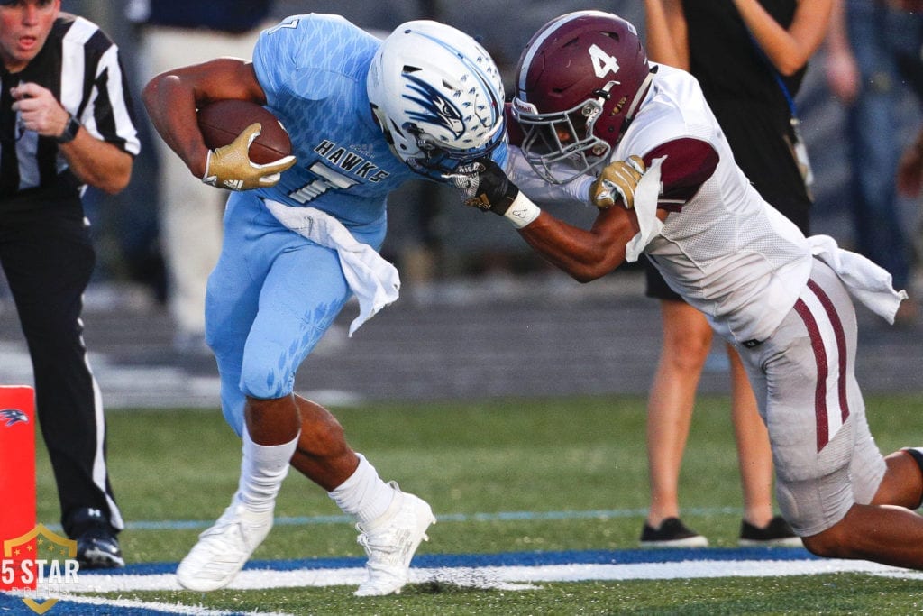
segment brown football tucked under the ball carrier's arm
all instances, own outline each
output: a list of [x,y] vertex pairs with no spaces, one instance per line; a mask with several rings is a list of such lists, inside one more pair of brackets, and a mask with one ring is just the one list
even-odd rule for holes
[[215,101],[198,110],[198,129],[210,150],[225,146],[254,122],[263,130],[250,145],[250,160],[257,164],[273,163],[292,153],[292,141],[279,118],[257,103],[249,101]]

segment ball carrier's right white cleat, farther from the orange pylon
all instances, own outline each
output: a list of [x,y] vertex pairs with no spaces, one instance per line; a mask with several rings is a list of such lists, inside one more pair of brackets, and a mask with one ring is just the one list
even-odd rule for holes
[[399,595],[410,576],[410,562],[426,528],[436,524],[433,510],[426,501],[402,492],[393,481],[394,501],[388,511],[366,527],[355,525],[361,533],[357,539],[366,549],[368,579],[354,592],[356,597]]

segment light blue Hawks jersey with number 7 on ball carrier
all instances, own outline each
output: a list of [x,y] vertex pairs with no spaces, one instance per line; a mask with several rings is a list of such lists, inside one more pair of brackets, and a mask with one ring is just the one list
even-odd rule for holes
[[380,41],[344,18],[297,15],[263,32],[253,55],[270,110],[298,163],[261,196],[310,206],[347,227],[379,221],[391,190],[413,175],[375,124],[366,75]]

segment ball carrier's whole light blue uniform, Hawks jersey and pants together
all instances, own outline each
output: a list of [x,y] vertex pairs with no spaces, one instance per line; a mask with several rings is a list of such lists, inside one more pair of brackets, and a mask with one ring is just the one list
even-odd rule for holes
[[[366,76],[380,42],[338,16],[297,15],[260,34],[253,63],[297,163],[271,188],[232,193],[209,278],[206,339],[222,411],[244,428],[246,396],[292,393],[296,370],[352,295],[337,253],[282,225],[263,199],[314,208],[378,250],[388,194],[411,177],[373,119]],[[492,152],[506,163],[506,146]]]

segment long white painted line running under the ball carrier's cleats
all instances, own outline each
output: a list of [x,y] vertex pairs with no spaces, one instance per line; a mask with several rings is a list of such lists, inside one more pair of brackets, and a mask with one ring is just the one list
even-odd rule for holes
[[[510,567],[412,568],[412,583],[442,582],[479,588],[522,589],[535,582],[585,580],[667,580],[706,577],[772,577],[833,573],[868,573],[923,580],[923,572],[908,571],[875,562],[847,560],[804,561],[685,561],[626,564],[559,564]],[[249,570],[234,578],[228,588],[253,590],[295,586],[358,586],[363,568]],[[526,585],[526,586],[522,586]],[[58,586],[60,587],[60,586]],[[68,592],[109,593],[139,590],[182,590],[174,574],[78,575]],[[41,591],[40,591],[41,592]],[[217,612],[216,612],[217,613]]]

